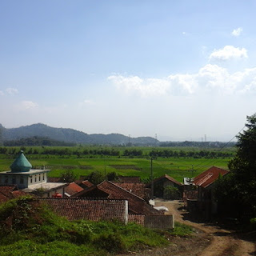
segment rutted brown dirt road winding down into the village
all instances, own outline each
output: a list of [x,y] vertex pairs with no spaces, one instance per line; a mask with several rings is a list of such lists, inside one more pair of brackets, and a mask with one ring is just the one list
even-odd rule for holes
[[[178,254],[166,255],[191,255],[191,256],[251,256],[256,255],[255,241],[250,238],[250,234],[238,236],[230,230],[223,230],[218,226],[210,226],[204,223],[191,222],[187,217],[188,213],[182,210],[182,202],[157,200],[155,206],[166,206],[169,214],[174,214],[174,219],[186,225],[193,226],[197,230],[201,230],[210,238],[209,245],[206,245],[201,251],[191,248],[188,254],[178,252]],[[194,246],[193,246],[194,247]],[[142,254],[143,255],[143,254]],[[149,254],[147,254],[149,255]],[[152,254],[153,255],[153,254]],[[157,254],[155,254],[157,255]]]

